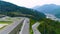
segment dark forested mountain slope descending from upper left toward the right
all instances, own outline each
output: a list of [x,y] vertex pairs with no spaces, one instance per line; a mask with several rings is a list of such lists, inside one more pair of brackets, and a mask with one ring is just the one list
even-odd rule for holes
[[45,18],[46,16],[30,8],[20,7],[9,2],[0,1],[0,14],[7,15],[10,17],[29,17],[36,20]]

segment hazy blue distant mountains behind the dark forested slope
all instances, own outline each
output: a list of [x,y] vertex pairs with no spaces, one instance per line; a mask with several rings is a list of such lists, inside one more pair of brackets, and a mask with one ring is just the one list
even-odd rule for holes
[[38,10],[39,12],[55,15],[57,18],[60,18],[60,5],[46,4],[43,6],[35,6],[34,9]]

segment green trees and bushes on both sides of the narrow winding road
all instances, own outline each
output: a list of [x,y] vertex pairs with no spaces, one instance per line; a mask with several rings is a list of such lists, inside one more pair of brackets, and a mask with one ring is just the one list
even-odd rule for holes
[[[30,26],[32,26],[36,21],[32,20],[30,22]],[[40,25],[38,26],[38,30],[41,34],[60,34],[60,22],[54,21],[51,19],[44,19],[39,21]],[[32,27],[30,28],[30,34],[33,34]]]

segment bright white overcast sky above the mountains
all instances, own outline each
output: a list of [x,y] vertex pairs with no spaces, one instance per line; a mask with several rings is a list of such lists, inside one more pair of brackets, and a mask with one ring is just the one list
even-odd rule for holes
[[27,8],[32,8],[37,5],[42,6],[44,4],[60,5],[60,0],[4,0],[4,1]]

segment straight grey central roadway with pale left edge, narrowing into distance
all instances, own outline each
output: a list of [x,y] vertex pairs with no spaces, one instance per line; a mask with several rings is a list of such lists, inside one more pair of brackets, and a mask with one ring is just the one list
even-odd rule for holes
[[29,19],[25,18],[19,34],[29,34]]

